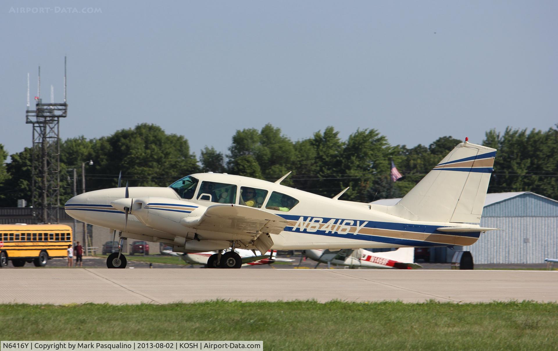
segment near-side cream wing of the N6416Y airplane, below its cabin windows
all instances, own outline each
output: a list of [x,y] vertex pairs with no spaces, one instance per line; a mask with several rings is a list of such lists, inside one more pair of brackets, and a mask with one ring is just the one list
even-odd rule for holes
[[218,204],[209,206],[203,215],[186,217],[180,221],[185,227],[232,234],[279,234],[288,221],[278,215],[242,205]]

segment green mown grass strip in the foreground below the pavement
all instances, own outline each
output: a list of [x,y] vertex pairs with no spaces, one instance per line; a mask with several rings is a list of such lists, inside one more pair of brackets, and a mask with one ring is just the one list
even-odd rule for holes
[[266,350],[551,350],[558,304],[0,305],[0,340],[263,340]]

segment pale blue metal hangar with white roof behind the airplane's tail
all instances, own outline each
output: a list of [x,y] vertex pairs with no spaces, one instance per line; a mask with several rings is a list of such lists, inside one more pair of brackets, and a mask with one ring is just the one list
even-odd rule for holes
[[[374,201],[394,205],[400,199]],[[473,254],[474,263],[544,263],[558,258],[558,201],[522,191],[487,194],[481,227],[501,228],[481,234],[472,246],[455,247]],[[431,248],[431,262],[450,262],[453,251]]]

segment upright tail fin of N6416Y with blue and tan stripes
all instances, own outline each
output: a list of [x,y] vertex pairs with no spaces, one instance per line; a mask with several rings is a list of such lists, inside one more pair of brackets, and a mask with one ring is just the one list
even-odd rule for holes
[[460,143],[388,213],[429,222],[479,223],[496,149]]

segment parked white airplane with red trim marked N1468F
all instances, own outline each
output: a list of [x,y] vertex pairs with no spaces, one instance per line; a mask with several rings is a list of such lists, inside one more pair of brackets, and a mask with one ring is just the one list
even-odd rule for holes
[[395,251],[372,252],[365,249],[342,249],[330,250],[306,250],[306,257],[328,265],[363,267],[363,268],[395,268],[398,270],[411,270],[422,268],[415,263],[415,248],[400,247]]

